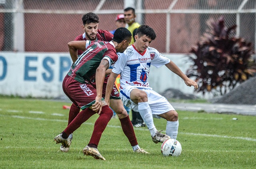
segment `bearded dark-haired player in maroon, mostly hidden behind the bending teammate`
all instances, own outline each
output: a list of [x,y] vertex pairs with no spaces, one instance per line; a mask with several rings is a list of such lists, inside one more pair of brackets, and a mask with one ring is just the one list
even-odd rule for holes
[[[96,14],[92,13],[92,12],[84,14],[84,16],[82,17],[83,24],[84,24],[82,26],[82,28],[84,28],[85,33],[78,36],[75,39],[76,41],[81,41],[81,42],[73,41],[73,42],[69,43],[69,48],[70,48],[70,52],[71,52],[70,56],[71,56],[74,63],[76,62],[76,60],[78,59],[78,55],[80,54],[78,52],[78,50],[84,51],[86,49],[85,44],[87,42],[90,42],[89,40],[103,40],[103,41],[111,41],[112,40],[113,35],[110,34],[108,31],[98,30],[98,23],[99,23],[98,19],[99,19],[98,16]],[[121,38],[120,36],[121,35],[117,34],[116,39],[118,37]],[[85,37],[85,38],[83,38],[83,37]],[[82,44],[82,46],[78,46],[77,44]],[[106,70],[106,72],[107,71],[109,71],[109,69]],[[110,74],[110,72],[108,72],[106,74]],[[104,80],[104,83],[103,83],[103,91],[102,91],[103,95],[105,94],[105,91],[106,91],[106,84],[107,84],[107,81],[108,81],[108,76],[105,77],[105,80]],[[91,81],[90,83],[93,85],[94,88],[96,88],[96,82],[95,81]],[[130,117],[129,117],[126,109],[124,109],[124,106],[123,106],[123,103],[122,103],[122,101],[119,97],[119,91],[118,91],[116,85],[114,85],[112,87],[110,107],[116,112],[116,114],[117,114],[117,116],[120,120],[122,130],[123,130],[124,134],[126,135],[126,137],[128,138],[128,140],[129,140],[129,142],[132,146],[133,151],[136,152],[136,153],[148,153],[148,152],[144,151],[143,149],[140,149],[140,147],[138,146],[138,142],[137,142],[137,139],[136,139],[136,136],[135,136],[135,133],[134,133],[134,129],[132,127],[132,123],[130,121]],[[80,117],[80,121],[86,121],[92,115],[95,114],[95,112],[91,109],[88,109],[87,111],[88,112],[85,115]],[[78,115],[79,112],[80,112],[80,107],[77,104],[72,103],[72,105],[70,107],[69,115],[68,115],[68,126],[76,118],[76,116]],[[72,123],[74,123],[74,122],[72,122]],[[67,132],[67,135],[64,133],[64,135],[62,135],[62,137],[64,139],[70,140],[70,143],[71,143],[72,138],[73,138],[72,131],[75,131],[78,127],[75,126],[74,129],[72,127],[69,127],[69,131]],[[65,145],[62,144],[60,146],[60,150],[62,152],[68,152],[69,151],[69,146],[65,147]]]

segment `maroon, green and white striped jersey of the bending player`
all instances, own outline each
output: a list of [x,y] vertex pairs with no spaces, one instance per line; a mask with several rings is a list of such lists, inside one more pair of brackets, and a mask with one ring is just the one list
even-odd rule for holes
[[104,58],[109,64],[114,64],[118,56],[113,42],[89,41],[90,45],[78,60],[71,66],[68,76],[80,83],[94,82],[96,69]]

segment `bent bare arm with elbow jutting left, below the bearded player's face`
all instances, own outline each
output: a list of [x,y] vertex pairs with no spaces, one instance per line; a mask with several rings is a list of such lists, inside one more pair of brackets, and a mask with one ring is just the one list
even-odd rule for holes
[[78,59],[77,50],[85,50],[86,41],[72,41],[68,42],[68,49],[73,63]]

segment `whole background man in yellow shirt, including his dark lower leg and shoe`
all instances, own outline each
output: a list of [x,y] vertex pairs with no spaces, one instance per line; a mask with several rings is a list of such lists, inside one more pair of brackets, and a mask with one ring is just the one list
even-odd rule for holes
[[[136,34],[136,30],[140,26],[140,24],[138,22],[135,22],[135,18],[136,18],[136,15],[135,15],[134,8],[128,7],[128,8],[124,9],[124,20],[125,20],[126,24],[128,24],[127,29],[132,33],[132,41],[131,41],[130,45],[134,44],[134,42],[135,42],[134,36]],[[146,126],[140,113],[136,112],[134,110],[132,110],[132,125],[134,127],[145,127]]]

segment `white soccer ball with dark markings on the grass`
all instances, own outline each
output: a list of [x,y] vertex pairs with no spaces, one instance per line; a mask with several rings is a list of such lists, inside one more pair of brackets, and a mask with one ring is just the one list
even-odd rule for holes
[[167,139],[162,143],[161,152],[164,156],[179,156],[181,153],[180,142],[176,139]]

